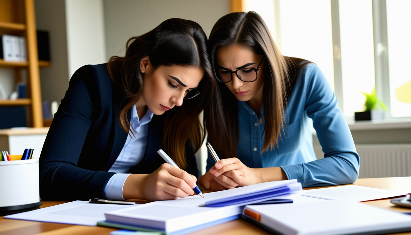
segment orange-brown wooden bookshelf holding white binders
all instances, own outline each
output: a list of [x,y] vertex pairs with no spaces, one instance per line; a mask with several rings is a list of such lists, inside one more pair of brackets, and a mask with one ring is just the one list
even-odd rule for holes
[[0,100],[0,106],[27,105],[28,126],[43,127],[39,67],[50,66],[50,62],[38,59],[34,0],[0,0],[0,35],[2,34],[26,39],[27,61],[10,62],[0,59],[0,67],[14,68],[16,82],[21,81],[21,69],[27,70],[27,99]]

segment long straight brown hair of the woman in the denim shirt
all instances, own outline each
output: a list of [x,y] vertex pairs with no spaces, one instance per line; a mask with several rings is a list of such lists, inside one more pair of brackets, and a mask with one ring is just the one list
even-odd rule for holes
[[[281,54],[261,16],[256,12],[235,12],[220,18],[208,39],[213,72],[217,70],[216,53],[221,46],[242,44],[254,53],[265,55],[263,109],[265,139],[263,151],[277,144],[283,128],[284,107],[292,89],[292,78],[300,59]],[[214,74],[216,76],[216,74]],[[215,101],[205,109],[208,137],[215,150],[224,157],[237,156],[237,99],[222,82],[217,82]]]

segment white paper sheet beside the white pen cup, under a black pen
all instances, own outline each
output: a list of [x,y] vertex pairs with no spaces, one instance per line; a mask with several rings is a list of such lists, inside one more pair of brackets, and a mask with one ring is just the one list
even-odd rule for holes
[[88,201],[67,202],[52,207],[4,216],[7,219],[24,219],[40,222],[69,223],[96,226],[103,221],[105,212],[135,207],[136,205],[95,204]]

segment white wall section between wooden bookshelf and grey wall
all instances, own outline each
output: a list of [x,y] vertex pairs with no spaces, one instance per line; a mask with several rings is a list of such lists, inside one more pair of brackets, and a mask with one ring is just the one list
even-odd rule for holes
[[69,78],[88,64],[106,63],[102,0],[66,0]]

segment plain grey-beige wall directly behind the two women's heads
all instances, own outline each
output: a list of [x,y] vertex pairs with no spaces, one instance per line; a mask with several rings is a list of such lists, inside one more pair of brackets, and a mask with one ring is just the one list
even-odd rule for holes
[[107,60],[124,55],[130,37],[147,33],[166,19],[195,21],[208,36],[229,11],[229,0],[104,0]]

